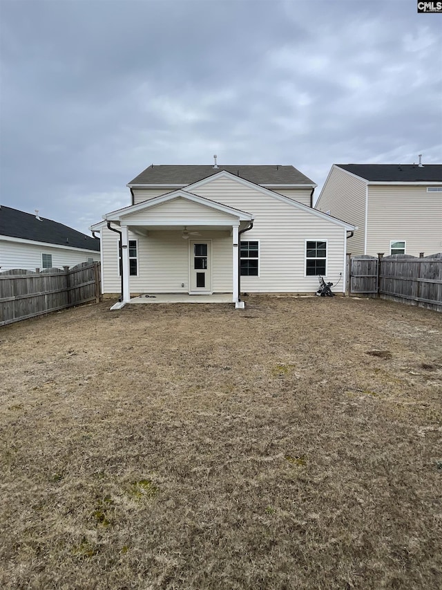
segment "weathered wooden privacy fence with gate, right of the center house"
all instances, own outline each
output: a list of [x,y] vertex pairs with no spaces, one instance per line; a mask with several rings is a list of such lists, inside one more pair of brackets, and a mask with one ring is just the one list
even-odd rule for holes
[[442,311],[442,253],[352,257],[349,291]]

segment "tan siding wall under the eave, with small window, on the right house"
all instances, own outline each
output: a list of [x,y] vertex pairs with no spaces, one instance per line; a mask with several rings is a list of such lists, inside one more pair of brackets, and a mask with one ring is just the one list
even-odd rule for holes
[[425,186],[369,186],[367,254],[390,253],[390,241],[405,241],[406,253],[442,250],[442,196]]

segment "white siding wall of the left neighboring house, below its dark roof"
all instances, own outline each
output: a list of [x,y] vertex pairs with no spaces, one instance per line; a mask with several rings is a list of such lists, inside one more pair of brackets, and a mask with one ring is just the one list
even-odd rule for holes
[[99,252],[81,250],[79,248],[65,249],[45,244],[27,244],[2,240],[0,236],[0,273],[3,270],[22,268],[23,270],[35,270],[42,268],[41,254],[45,252],[52,256],[52,267],[63,268],[64,266],[75,266],[81,262],[87,262],[89,258],[99,261]]

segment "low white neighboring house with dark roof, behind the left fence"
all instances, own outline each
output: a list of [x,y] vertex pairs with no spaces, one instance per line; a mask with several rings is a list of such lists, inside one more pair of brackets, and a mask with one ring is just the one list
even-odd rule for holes
[[0,206],[0,273],[99,261],[99,239],[67,225]]

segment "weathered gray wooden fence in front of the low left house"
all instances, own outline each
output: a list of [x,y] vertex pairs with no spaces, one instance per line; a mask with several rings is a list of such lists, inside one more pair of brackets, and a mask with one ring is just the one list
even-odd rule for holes
[[0,273],[0,326],[100,299],[100,263]]

